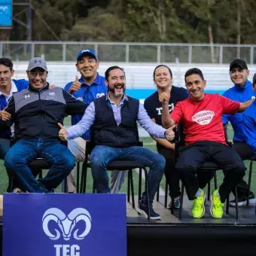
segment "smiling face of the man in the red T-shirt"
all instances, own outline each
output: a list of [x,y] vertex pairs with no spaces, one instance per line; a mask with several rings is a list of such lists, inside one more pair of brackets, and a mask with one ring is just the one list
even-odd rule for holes
[[185,79],[188,93],[194,101],[198,102],[204,97],[204,88],[206,87],[206,80],[198,74],[188,75]]

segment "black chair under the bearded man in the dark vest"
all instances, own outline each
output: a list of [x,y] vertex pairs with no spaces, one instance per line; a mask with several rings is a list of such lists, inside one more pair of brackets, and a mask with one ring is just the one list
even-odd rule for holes
[[[138,146],[142,147],[143,143],[139,142],[139,131],[138,128],[136,130],[136,138],[138,141]],[[93,126],[90,127],[90,141],[87,141],[85,148],[85,160],[82,166],[81,172],[81,184],[80,184],[80,193],[86,192],[87,187],[87,168],[91,168],[90,165],[90,154],[93,151],[95,146],[94,138],[93,138]],[[127,189],[127,200],[130,202],[130,191],[132,192],[132,200],[133,200],[133,209],[135,208],[135,199],[134,199],[134,187],[133,187],[133,169],[139,169],[139,200],[141,198],[142,191],[142,169],[145,173],[145,191],[148,198],[148,171],[142,163],[131,160],[114,160],[108,164],[107,170],[128,170],[128,189]],[[78,177],[79,180],[79,177]],[[93,184],[93,193],[95,193],[95,186]],[[150,213],[149,207],[149,199],[148,199],[148,213]],[[148,220],[150,220],[150,214],[148,214]]]

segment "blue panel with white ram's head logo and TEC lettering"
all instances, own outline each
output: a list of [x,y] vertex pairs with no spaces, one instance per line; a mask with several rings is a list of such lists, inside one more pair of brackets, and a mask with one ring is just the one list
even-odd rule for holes
[[3,256],[125,256],[125,194],[4,194]]

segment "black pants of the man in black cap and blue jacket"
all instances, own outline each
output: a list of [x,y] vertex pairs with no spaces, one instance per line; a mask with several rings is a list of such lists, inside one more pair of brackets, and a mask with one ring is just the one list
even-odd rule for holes
[[[250,145],[246,144],[245,142],[234,142],[232,145],[232,148],[236,151],[237,154],[242,158],[242,160],[247,160],[251,157],[252,154],[254,154],[252,148]],[[226,172],[224,172],[224,175],[226,175]],[[248,197],[248,184],[241,179],[239,181],[239,184],[237,184],[237,197]],[[232,191],[234,194],[234,191]],[[250,192],[250,194],[253,194]]]

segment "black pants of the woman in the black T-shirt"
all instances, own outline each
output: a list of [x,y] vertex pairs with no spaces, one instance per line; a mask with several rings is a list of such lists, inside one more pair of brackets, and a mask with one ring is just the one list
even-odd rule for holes
[[179,186],[178,172],[175,169],[175,152],[164,147],[158,147],[157,151],[166,159],[164,175],[169,185],[169,196],[178,197],[181,195],[181,188]]

